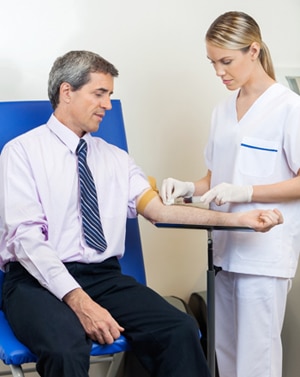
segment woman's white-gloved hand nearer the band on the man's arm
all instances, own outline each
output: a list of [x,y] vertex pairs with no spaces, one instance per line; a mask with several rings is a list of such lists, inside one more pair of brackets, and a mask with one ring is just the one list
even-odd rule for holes
[[195,192],[195,185],[193,182],[178,181],[174,178],[166,178],[163,180],[160,196],[164,204],[174,204],[178,197],[189,198]]

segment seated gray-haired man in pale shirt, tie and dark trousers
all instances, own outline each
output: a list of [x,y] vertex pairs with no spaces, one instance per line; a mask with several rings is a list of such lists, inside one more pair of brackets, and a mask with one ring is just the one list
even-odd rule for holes
[[[209,376],[194,320],[120,273],[126,218],[139,213],[151,222],[267,231],[282,216],[164,206],[127,153],[90,134],[111,108],[117,76],[92,52],[58,58],[48,83],[53,115],[2,152],[4,310],[16,336],[37,355],[42,376],[88,376],[91,339],[112,343],[121,333],[152,376]],[[97,189],[99,250],[84,231],[82,140]]]

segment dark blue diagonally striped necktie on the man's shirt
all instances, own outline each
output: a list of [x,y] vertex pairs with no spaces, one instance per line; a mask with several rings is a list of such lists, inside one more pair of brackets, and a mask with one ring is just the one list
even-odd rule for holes
[[87,144],[85,140],[80,139],[76,154],[78,156],[80,205],[84,237],[88,246],[103,252],[107,244],[100,220],[95,183],[86,162]]

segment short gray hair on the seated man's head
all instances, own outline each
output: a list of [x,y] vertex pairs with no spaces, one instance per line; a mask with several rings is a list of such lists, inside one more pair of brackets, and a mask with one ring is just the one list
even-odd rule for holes
[[57,58],[51,68],[48,80],[48,97],[53,110],[59,104],[59,90],[63,82],[73,90],[79,90],[90,80],[90,73],[101,72],[118,77],[118,70],[100,55],[90,51],[70,51]]

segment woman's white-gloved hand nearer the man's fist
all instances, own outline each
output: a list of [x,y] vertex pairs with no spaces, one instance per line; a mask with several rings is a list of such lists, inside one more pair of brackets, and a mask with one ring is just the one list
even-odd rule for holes
[[214,201],[218,206],[225,203],[249,203],[252,200],[252,186],[236,186],[220,183],[201,196],[201,202],[209,204]]

